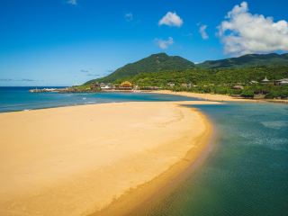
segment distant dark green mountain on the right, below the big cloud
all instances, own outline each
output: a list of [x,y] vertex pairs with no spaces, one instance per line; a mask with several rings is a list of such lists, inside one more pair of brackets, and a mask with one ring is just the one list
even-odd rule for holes
[[259,67],[259,66],[287,66],[288,53],[286,54],[248,54],[238,58],[220,60],[207,60],[198,67],[202,68],[231,68],[231,67]]

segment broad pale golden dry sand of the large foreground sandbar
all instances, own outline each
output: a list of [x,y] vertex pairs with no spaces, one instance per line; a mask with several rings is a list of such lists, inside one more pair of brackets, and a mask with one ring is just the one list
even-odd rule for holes
[[150,188],[155,192],[207,145],[210,122],[181,105],[201,103],[213,102],[0,113],[0,215],[102,215],[112,202],[166,173]]

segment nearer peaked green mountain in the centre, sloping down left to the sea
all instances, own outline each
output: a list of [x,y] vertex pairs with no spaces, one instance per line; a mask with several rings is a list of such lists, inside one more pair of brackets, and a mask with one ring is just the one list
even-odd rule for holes
[[193,62],[178,56],[168,56],[166,53],[157,53],[143,58],[134,63],[130,63],[115,70],[111,75],[88,81],[93,82],[113,82],[117,79],[136,76],[144,72],[175,71],[194,67]]

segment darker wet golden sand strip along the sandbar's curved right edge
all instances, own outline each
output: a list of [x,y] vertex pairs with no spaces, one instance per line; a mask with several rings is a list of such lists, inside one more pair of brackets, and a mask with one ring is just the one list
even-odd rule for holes
[[162,174],[130,190],[128,193],[122,194],[119,199],[102,211],[95,211],[88,216],[138,215],[139,212],[142,212],[140,215],[145,215],[143,212],[146,211],[147,204],[157,202],[166,194],[171,193],[179,183],[184,181],[187,175],[191,174],[196,167],[202,165],[213,148],[212,140],[216,133],[207,116],[197,110],[194,110],[194,112],[202,115],[207,127],[205,133],[196,140],[197,149],[190,149],[181,160],[170,166]]

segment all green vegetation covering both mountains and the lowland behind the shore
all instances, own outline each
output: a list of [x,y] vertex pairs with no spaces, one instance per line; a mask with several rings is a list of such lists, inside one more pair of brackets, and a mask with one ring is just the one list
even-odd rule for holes
[[[259,58],[261,58],[260,61],[257,60]],[[261,64],[264,59],[266,62],[277,62],[275,59],[278,58],[288,58],[288,54],[246,55],[240,58],[229,58],[232,60],[226,59],[225,61],[234,62],[233,64],[237,62],[238,66],[241,64],[246,66],[251,62]],[[155,64],[155,62],[158,63]],[[88,89],[89,85],[95,82],[111,82],[119,85],[122,81],[128,80],[142,89],[157,86],[173,91],[238,94],[244,97],[255,95],[262,95],[266,98],[288,97],[288,85],[274,84],[277,79],[288,78],[288,62],[285,65],[279,64],[279,66],[270,64],[257,67],[228,67],[227,64],[227,68],[225,68],[215,67],[214,63],[211,65],[211,68],[205,68],[207,64],[205,67],[203,65],[194,67],[193,63],[184,58],[169,57],[160,53],[121,67],[110,76],[91,80],[85,85],[79,86],[79,89]],[[220,63],[220,65],[223,66],[224,63]],[[265,77],[271,82],[263,84],[262,80]]]

